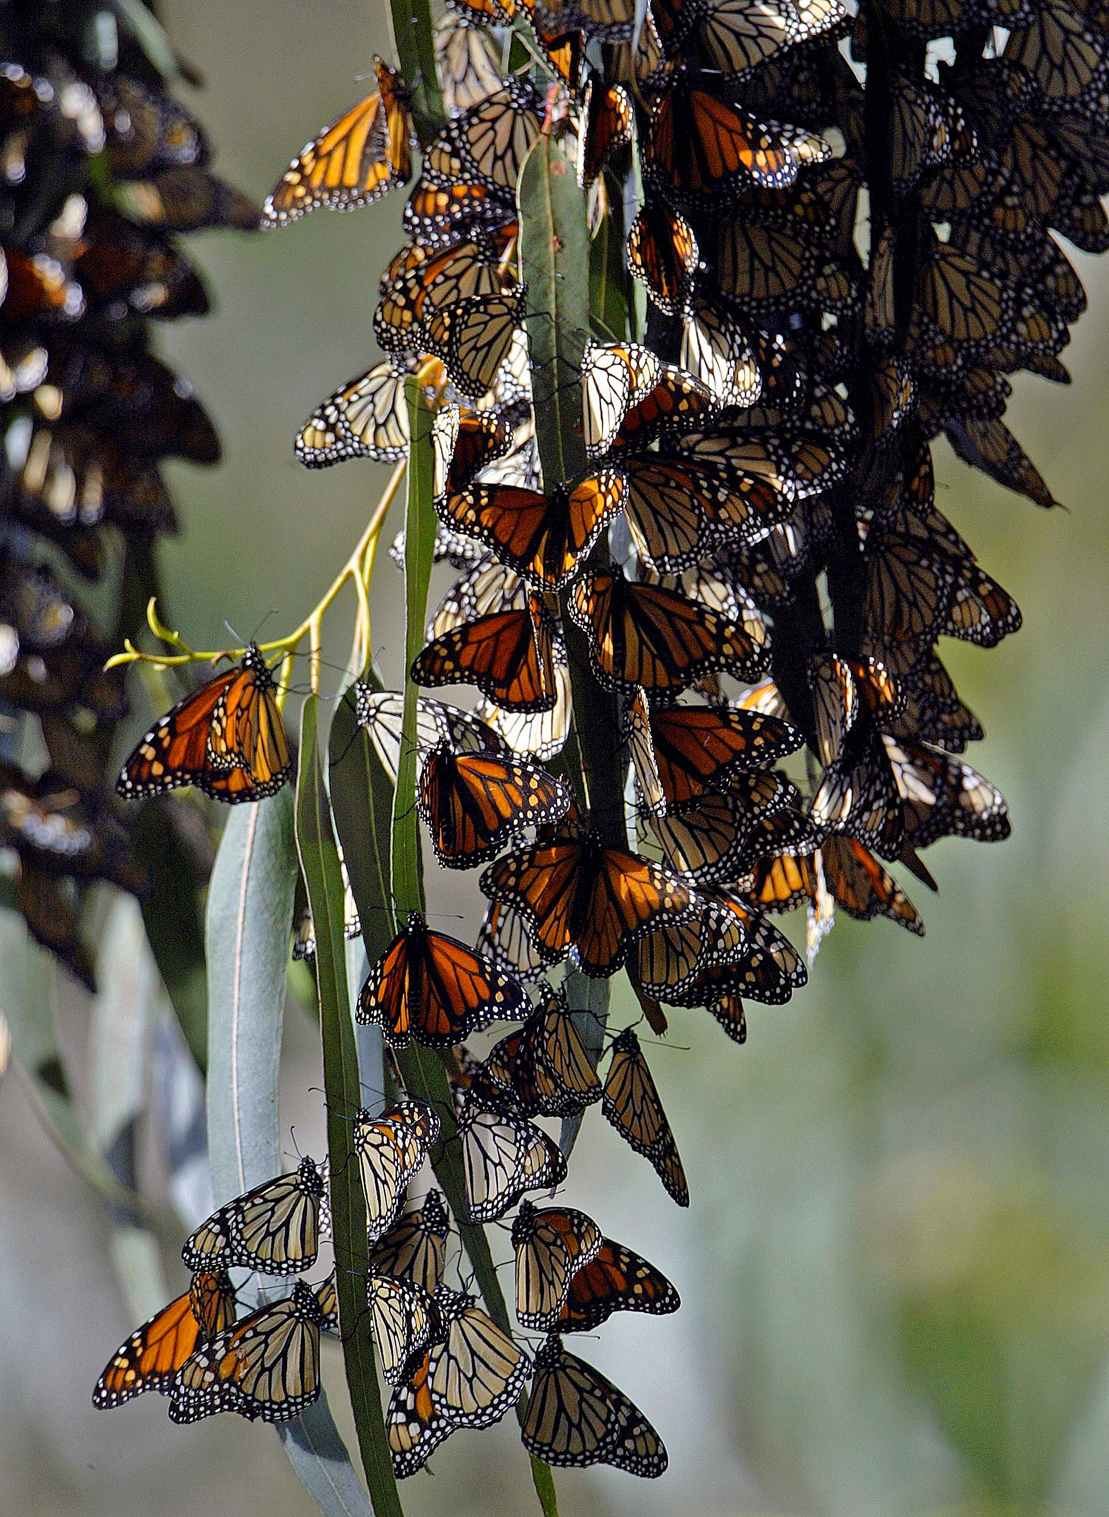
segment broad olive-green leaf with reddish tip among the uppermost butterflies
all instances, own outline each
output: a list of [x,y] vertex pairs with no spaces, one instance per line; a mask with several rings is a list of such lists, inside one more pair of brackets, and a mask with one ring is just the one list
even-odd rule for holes
[[517,200],[536,440],[551,490],[586,467],[578,376],[589,337],[586,196],[554,138],[539,137],[528,153]]

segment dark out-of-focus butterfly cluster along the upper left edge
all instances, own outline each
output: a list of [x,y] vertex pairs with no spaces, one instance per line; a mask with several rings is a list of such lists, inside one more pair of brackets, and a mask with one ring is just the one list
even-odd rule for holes
[[88,883],[147,889],[106,784],[127,696],[103,666],[156,590],[156,539],[176,531],[161,461],[220,457],[153,323],[208,311],[176,234],[258,221],[209,158],[114,11],[5,8],[0,857],[5,903],[90,988]]

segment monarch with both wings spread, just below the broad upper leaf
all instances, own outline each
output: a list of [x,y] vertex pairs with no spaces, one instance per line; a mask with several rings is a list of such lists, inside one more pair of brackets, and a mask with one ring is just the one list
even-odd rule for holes
[[573,488],[551,495],[511,485],[472,485],[448,496],[438,514],[479,537],[517,575],[543,590],[561,590],[625,499],[622,475],[601,469]]

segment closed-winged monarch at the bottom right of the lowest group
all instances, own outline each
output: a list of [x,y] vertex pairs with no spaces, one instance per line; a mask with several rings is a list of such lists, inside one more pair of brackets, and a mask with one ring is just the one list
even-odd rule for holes
[[613,1464],[655,1479],[669,1462],[666,1446],[640,1409],[554,1335],[536,1355],[520,1437],[528,1453],[554,1465]]

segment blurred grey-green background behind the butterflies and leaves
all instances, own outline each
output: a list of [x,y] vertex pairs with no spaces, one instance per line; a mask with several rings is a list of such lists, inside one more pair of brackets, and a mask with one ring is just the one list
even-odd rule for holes
[[[167,0],[162,15],[206,77],[185,97],[217,170],[259,200],[387,47],[381,0]],[[308,473],[291,441],[376,358],[370,316],[401,206],[190,241],[218,316],[164,340],[225,463],[173,469],[184,532],[161,561],[168,620],[196,646],[220,646],[225,617],[243,636],[299,620],[384,484],[363,461]],[[684,1305],[617,1317],[583,1346],[655,1421],[669,1473],[560,1473],[564,1517],[1109,1512],[1109,267],[1071,256],[1091,297],[1063,355],[1074,384],[1019,378],[1009,413],[1070,510],[1038,513],[938,448],[942,510],[1024,611],[989,655],[945,649],[989,734],[968,757],[1009,798],[1013,837],[930,851],[939,897],[910,881],[924,942],[840,919],[790,1006],[748,1007],[745,1048],[702,1012],[672,1013],[648,1054],[689,1212],[587,1115],[569,1200],[666,1270]],[[372,604],[396,677],[402,584],[384,555]],[[341,617],[328,655],[346,657]],[[476,895],[432,884],[432,909],[460,901],[476,928]],[[88,1103],[88,1007],[65,988],[58,1003]],[[284,1129],[319,1154],[317,1033],[296,1001],[284,1057]],[[168,1204],[158,1226],[179,1289]],[[261,1424],[178,1429],[153,1396],[93,1411],[93,1382],[137,1321],[114,1250],[108,1209],[9,1071],[0,1511],[314,1511]],[[337,1352],[326,1376],[341,1420]],[[455,1435],[402,1496],[413,1517],[534,1511],[513,1418],[481,1441]]]

